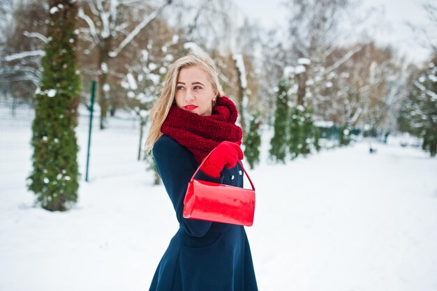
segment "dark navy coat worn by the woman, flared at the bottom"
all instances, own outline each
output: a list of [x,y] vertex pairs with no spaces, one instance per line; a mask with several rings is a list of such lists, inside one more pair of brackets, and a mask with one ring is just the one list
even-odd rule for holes
[[[188,181],[198,167],[193,154],[168,135],[154,144],[156,168],[176,211],[179,230],[170,241],[150,291],[256,291],[251,249],[241,225],[182,217]],[[221,178],[198,172],[196,179],[243,186],[239,165]]]

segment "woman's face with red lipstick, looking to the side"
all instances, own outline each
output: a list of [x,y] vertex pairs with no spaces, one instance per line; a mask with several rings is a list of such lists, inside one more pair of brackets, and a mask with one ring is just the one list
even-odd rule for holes
[[207,73],[200,66],[179,70],[175,90],[177,107],[207,116],[212,114],[212,100],[215,98],[216,94],[214,94]]

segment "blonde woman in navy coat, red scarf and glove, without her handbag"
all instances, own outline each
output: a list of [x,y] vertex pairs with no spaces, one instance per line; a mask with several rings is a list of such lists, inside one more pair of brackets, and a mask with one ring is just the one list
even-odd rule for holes
[[182,217],[188,181],[212,149],[216,150],[196,179],[243,186],[237,164],[243,158],[237,114],[234,103],[222,96],[216,66],[204,52],[188,54],[170,66],[151,109],[146,148],[153,147],[180,227],[158,264],[150,290],[258,290],[244,227]]

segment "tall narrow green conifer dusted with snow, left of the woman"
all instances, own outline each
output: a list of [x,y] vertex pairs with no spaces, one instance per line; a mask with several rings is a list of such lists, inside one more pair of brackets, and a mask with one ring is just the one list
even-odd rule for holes
[[76,64],[77,2],[50,0],[43,75],[34,100],[29,190],[50,211],[65,211],[77,201],[77,106],[80,77]]

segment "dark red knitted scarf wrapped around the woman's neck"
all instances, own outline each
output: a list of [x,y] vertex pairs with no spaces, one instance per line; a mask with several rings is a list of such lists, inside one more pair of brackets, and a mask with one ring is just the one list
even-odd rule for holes
[[242,128],[235,125],[237,116],[237,107],[225,96],[217,98],[209,116],[202,117],[172,105],[161,132],[186,147],[195,161],[201,163],[220,142],[242,140]]

